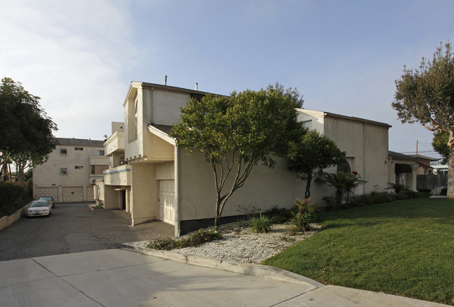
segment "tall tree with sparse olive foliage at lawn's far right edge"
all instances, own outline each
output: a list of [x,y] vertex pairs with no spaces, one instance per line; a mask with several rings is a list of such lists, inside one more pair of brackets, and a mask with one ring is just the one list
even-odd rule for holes
[[430,131],[445,131],[448,146],[448,199],[454,199],[454,57],[451,43],[440,43],[432,61],[423,58],[419,69],[407,69],[395,80],[393,108],[405,123],[419,122]]

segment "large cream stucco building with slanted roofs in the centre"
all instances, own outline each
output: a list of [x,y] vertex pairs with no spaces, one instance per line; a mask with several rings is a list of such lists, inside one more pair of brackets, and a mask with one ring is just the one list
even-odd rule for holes
[[[132,82],[124,100],[124,123],[112,123],[105,141],[111,166],[96,180],[96,198],[106,209],[131,213],[134,226],[149,220],[175,225],[175,235],[203,227],[214,218],[213,173],[202,154],[177,148],[170,138],[180,120],[180,108],[205,92],[152,83]],[[358,194],[387,187],[388,124],[321,111],[298,109],[306,126],[328,135],[346,151],[339,171],[357,171],[368,183]],[[333,167],[327,171],[336,172]],[[312,185],[314,202],[334,194],[324,183]],[[291,208],[304,198],[304,183],[278,160],[273,169],[258,164],[242,188],[228,200],[224,220],[273,206]],[[248,209],[249,208],[249,209]]]

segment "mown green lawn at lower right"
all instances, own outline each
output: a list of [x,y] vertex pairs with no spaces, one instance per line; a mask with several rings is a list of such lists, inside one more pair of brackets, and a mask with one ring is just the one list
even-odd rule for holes
[[263,264],[324,284],[454,306],[454,201],[407,199],[318,220],[323,231]]

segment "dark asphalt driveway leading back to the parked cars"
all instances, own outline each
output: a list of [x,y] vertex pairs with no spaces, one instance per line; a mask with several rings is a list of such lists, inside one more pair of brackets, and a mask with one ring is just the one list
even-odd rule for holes
[[124,210],[94,210],[88,203],[57,204],[50,217],[21,218],[0,230],[0,261],[117,248],[121,243],[173,236],[173,226],[131,227]]

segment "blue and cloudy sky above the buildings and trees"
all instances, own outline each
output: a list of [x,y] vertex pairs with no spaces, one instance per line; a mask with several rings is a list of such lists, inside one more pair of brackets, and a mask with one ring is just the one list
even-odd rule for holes
[[303,108],[385,122],[389,150],[439,157],[392,108],[404,65],[454,41],[451,0],[0,0],[0,77],[54,135],[102,140],[131,81],[215,94],[296,87]]

